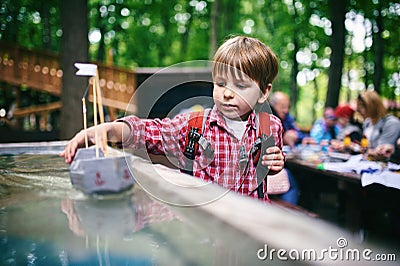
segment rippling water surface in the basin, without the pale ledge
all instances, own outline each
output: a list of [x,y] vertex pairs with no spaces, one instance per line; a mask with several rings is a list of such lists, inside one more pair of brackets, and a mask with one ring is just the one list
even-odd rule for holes
[[[3,149],[0,156],[1,265],[260,263],[255,245],[243,247],[237,238],[237,244],[227,246],[140,186],[122,194],[88,196],[71,185],[57,147],[28,149],[30,154]],[[232,231],[226,233],[231,239]]]

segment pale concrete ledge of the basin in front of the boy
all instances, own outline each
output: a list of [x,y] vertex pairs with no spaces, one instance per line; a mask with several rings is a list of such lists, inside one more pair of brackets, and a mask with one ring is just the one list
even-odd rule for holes
[[[151,187],[157,191],[156,198],[162,197],[163,201],[168,199],[171,202],[192,202],[193,207],[175,207],[193,208],[198,216],[212,216],[219,221],[219,226],[235,228],[259,244],[268,243],[287,250],[322,250],[334,246],[340,237],[352,240],[348,232],[322,220],[266,205],[234,192],[226,193],[225,189],[215,184],[205,186],[197,178],[163,165],[151,164],[142,158],[134,157],[132,168],[135,175],[141,176],[138,184],[144,186],[145,190]],[[184,184],[187,189],[180,188],[177,192],[176,184]],[[202,199],[206,202],[210,194],[224,196],[205,204],[197,204]]]

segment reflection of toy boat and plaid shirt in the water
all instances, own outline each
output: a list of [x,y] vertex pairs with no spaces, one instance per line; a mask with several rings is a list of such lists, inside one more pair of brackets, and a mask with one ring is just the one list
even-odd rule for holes
[[151,223],[179,219],[166,205],[151,200],[141,190],[108,199],[63,199],[61,210],[77,236],[126,238]]

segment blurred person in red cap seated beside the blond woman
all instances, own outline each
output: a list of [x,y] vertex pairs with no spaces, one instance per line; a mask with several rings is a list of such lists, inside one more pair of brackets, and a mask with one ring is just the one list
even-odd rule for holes
[[352,142],[359,142],[362,138],[361,124],[354,119],[354,109],[349,105],[339,105],[335,108],[334,116],[340,127],[336,139],[343,140],[347,135]]

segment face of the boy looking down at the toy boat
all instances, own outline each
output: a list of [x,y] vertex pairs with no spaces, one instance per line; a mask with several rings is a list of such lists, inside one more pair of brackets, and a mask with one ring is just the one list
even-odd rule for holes
[[263,94],[258,84],[245,75],[216,75],[213,79],[215,105],[229,119],[247,120],[256,104],[265,102],[271,89],[268,86]]

